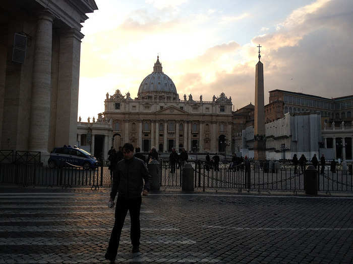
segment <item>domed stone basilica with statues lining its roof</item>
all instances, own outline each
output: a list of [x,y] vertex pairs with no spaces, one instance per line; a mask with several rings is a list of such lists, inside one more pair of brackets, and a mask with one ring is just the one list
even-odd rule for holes
[[[106,131],[103,149],[94,150],[95,135],[86,137],[86,145],[96,156],[108,150],[109,141],[115,149],[125,142],[148,152],[155,147],[159,152],[231,152],[232,112],[231,98],[224,93],[213,95],[212,101],[196,100],[193,95],[180,99],[173,81],[162,71],[157,57],[153,72],[141,82],[137,97],[132,99],[119,90],[114,95],[106,94],[104,112],[98,115],[97,124],[104,124]],[[78,123],[78,140],[86,130],[93,131],[95,125]],[[110,129],[109,129],[110,127]],[[90,132],[87,132],[90,133]],[[92,133],[92,132],[91,132]],[[92,140],[93,139],[93,140]],[[109,142],[109,143],[107,143]],[[97,147],[97,146],[96,146]]]

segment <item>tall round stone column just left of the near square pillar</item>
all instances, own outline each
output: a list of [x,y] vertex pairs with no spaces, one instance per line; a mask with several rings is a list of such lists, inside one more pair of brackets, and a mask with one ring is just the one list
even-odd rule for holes
[[33,61],[29,150],[44,153],[48,152],[53,18],[49,12],[38,17]]

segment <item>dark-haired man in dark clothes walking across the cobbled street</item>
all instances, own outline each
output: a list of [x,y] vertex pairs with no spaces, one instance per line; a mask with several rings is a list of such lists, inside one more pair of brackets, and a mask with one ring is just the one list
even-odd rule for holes
[[[134,157],[134,146],[131,143],[125,143],[122,149],[124,158],[114,167],[113,185],[109,200],[109,203],[113,203],[116,193],[119,191],[115,206],[114,227],[105,253],[105,259],[110,261],[115,260],[128,211],[131,219],[130,238],[133,245],[132,252],[140,251],[141,192],[143,190],[143,195],[146,196],[150,189],[148,169],[141,159]],[[145,184],[143,184],[143,180]]]

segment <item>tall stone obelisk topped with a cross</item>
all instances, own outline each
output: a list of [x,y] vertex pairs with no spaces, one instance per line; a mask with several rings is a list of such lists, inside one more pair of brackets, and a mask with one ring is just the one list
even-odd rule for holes
[[254,121],[254,159],[266,159],[265,144],[265,104],[264,104],[264,65],[260,61],[256,64],[255,73],[255,121]]

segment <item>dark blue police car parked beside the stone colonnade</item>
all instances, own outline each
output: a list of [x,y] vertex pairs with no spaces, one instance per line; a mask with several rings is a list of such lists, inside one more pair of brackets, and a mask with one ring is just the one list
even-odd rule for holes
[[64,145],[64,147],[56,147],[50,152],[48,166],[50,168],[80,166],[89,169],[97,167],[97,159],[77,146]]

